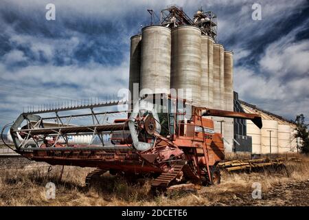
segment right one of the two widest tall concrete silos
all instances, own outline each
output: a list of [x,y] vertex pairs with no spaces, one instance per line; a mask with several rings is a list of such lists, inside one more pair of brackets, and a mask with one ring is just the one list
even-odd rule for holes
[[[172,30],[171,88],[184,89],[181,98],[201,105],[201,30],[192,25]],[[191,97],[185,89],[191,89]]]

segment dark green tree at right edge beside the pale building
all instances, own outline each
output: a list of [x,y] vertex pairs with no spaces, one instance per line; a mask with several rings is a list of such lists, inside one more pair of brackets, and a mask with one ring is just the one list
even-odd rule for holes
[[309,132],[308,132],[308,124],[305,124],[305,117],[303,114],[296,116],[296,133],[295,137],[299,137],[301,139],[301,143],[299,143],[299,149],[302,153],[309,153]]

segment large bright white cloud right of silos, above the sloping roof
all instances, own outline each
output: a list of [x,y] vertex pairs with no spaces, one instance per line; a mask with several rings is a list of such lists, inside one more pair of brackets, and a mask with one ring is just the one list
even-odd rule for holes
[[309,111],[309,40],[295,41],[300,27],[269,44],[258,67],[236,67],[234,88],[240,98],[268,111],[293,118]]

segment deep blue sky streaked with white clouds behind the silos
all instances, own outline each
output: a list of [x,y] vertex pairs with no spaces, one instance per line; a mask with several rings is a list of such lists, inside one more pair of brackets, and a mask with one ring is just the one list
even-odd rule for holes
[[[45,6],[56,5],[56,21]],[[309,117],[309,8],[277,1],[0,2],[0,127],[28,105],[117,94],[128,86],[130,36],[147,9],[203,6],[218,15],[218,41],[234,52],[234,90],[242,100],[295,118]],[[253,21],[253,3],[262,21]]]

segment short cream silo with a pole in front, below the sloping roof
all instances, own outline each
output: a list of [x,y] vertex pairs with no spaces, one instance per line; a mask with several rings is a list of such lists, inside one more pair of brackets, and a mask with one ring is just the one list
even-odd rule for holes
[[[278,122],[276,120],[262,120],[261,148],[262,153],[278,153]],[[270,132],[271,131],[271,132]]]

